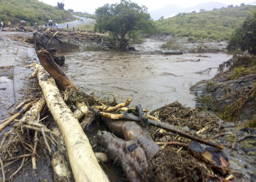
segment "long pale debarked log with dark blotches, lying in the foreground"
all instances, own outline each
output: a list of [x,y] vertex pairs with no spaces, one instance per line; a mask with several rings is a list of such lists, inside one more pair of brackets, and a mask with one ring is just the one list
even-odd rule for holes
[[64,138],[74,179],[76,182],[109,181],[97,162],[90,142],[78,120],[62,99],[54,79],[42,66],[35,63],[34,66],[37,68],[37,78],[47,106]]

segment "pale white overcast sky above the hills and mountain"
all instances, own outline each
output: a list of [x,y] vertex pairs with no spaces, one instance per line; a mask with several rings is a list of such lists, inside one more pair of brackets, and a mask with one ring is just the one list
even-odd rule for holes
[[[106,3],[112,4],[112,3],[119,3],[120,0],[39,0],[43,3],[47,3],[52,6],[57,6],[57,2],[64,1],[64,9],[73,9],[76,12],[76,9],[78,12],[86,12],[89,14],[94,14],[95,9],[98,7],[103,6]],[[241,3],[251,3],[254,2],[254,0],[131,0],[132,2],[136,2],[138,5],[145,5],[148,10],[155,10],[163,7],[167,4],[175,4],[180,5],[182,7],[193,7],[199,3],[202,2],[221,2],[227,5],[233,4],[240,5]]]

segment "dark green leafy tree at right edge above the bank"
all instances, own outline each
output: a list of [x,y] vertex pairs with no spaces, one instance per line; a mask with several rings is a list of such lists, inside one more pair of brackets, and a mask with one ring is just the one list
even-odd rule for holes
[[251,19],[244,21],[242,27],[235,30],[235,34],[230,37],[227,45],[228,51],[240,49],[248,51],[251,54],[256,54],[256,12]]

